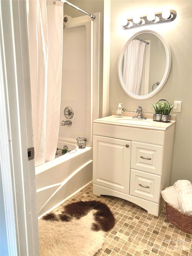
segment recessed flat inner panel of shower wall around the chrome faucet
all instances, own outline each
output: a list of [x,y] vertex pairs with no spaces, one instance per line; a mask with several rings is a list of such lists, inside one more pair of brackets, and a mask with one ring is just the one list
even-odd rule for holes
[[[87,44],[86,27],[64,30],[63,74],[61,91],[61,119],[64,108],[73,108],[71,126],[60,127],[59,136],[66,139],[86,137],[87,134]],[[78,126],[77,126],[78,125]],[[64,138],[63,138],[64,139]]]

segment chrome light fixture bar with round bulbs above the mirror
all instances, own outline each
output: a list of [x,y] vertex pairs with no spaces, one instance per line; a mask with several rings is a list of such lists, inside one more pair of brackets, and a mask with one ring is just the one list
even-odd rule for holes
[[176,11],[167,10],[158,13],[150,13],[143,16],[135,16],[127,19],[127,24],[122,26],[122,29],[133,29],[140,26],[155,25],[175,20]]

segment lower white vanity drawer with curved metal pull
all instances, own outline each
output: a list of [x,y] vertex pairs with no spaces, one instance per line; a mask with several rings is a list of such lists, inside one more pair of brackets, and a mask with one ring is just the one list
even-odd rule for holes
[[131,169],[130,195],[158,203],[160,186],[161,176]]

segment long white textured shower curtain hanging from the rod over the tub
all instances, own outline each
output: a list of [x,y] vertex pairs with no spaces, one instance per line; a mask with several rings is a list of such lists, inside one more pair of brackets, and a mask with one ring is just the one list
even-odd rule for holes
[[[55,3],[55,4],[54,4]],[[55,158],[63,56],[63,2],[27,0],[35,166]]]

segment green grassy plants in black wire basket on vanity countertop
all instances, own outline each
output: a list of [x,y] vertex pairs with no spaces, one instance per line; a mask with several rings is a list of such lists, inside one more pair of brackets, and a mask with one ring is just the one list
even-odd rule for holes
[[[161,102],[165,101],[165,102]],[[170,112],[173,110],[174,105],[167,100],[159,100],[157,103],[152,104],[152,109],[155,111],[153,121],[158,122],[171,122]]]

